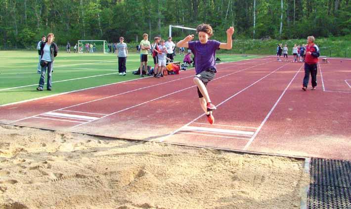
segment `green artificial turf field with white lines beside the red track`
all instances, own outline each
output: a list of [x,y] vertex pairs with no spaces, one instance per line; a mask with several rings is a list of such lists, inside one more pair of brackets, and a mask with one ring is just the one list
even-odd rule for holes
[[[37,73],[38,53],[0,51],[0,105],[139,78],[132,74],[140,64],[139,56],[136,53],[130,54],[127,59],[127,75],[120,76],[115,54],[60,52],[55,59],[52,91],[39,92],[36,90],[40,78],[40,74]],[[232,62],[258,56],[220,54],[218,57],[224,62]],[[182,59],[183,56],[180,55],[175,57],[175,61]],[[148,65],[153,66],[151,56]]]

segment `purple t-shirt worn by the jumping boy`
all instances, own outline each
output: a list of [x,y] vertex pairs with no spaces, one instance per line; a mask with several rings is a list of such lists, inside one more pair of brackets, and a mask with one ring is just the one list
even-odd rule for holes
[[217,40],[208,40],[204,44],[199,40],[189,42],[189,49],[195,56],[196,74],[211,67],[216,68],[216,50],[219,49],[219,44]]

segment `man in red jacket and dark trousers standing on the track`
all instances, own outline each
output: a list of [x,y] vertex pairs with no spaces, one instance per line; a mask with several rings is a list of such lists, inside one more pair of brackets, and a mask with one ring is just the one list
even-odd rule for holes
[[305,57],[305,77],[302,90],[307,90],[309,74],[311,74],[312,90],[317,86],[317,62],[319,57],[319,48],[314,44],[314,37],[307,37],[306,57]]

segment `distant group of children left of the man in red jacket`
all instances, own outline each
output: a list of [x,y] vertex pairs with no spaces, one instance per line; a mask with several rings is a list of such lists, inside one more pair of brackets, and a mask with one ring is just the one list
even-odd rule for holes
[[[292,54],[294,56],[293,63],[305,62],[306,47],[307,47],[307,44],[302,44],[302,45],[294,44],[293,51],[292,51]],[[277,46],[277,60],[279,62],[282,62],[280,57],[283,54],[284,62],[288,62],[289,61],[288,60],[288,51],[289,51],[289,49],[288,49],[287,44],[285,44],[284,47],[282,47],[281,43],[278,44],[278,46]]]

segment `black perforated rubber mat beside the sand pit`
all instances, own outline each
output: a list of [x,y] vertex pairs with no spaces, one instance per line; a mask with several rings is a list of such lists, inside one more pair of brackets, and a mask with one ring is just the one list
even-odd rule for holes
[[307,209],[351,209],[351,162],[312,158]]

